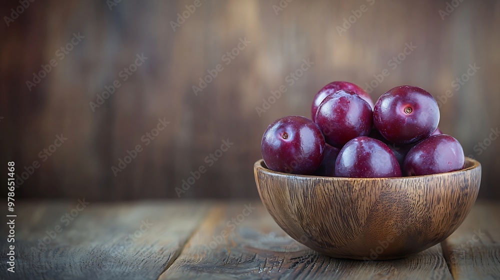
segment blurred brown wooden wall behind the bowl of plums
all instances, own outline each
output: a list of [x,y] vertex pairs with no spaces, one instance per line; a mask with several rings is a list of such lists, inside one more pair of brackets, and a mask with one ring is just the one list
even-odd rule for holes
[[[374,100],[401,84],[436,98],[451,90],[439,127],[482,163],[480,197],[500,198],[500,140],[486,140],[500,126],[498,1],[37,0],[8,26],[4,16],[20,4],[0,5],[0,164],[15,160],[18,174],[40,164],[18,197],[177,197],[175,187],[200,165],[206,172],[182,198],[257,197],[252,166],[266,126],[284,115],[309,117],[312,96],[332,80],[365,87],[385,68]],[[183,12],[174,31],[171,21]],[[60,59],[57,50],[78,32],[84,38]],[[247,46],[228,59],[244,38]],[[391,63],[406,43],[416,48]],[[147,59],[123,81],[120,71],[141,53]],[[307,58],[314,64],[291,84],[287,75]],[[51,59],[57,65],[28,90],[26,81]],[[223,70],[196,96],[192,86],[219,63]],[[474,63],[474,75],[453,86]],[[120,87],[93,112],[89,102],[115,79]],[[280,85],[286,92],[259,116],[255,107]],[[146,146],[141,137],[158,118],[170,123]],[[60,133],[67,140],[43,156]],[[205,157],[225,139],[234,144],[209,166]],[[115,176],[111,166],[138,144],[142,151]]]

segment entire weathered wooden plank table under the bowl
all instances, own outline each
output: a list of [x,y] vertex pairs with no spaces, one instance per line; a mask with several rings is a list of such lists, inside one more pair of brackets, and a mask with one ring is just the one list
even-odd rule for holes
[[[90,202],[85,207],[79,203],[16,205],[15,273],[6,271],[7,243],[2,237],[0,277],[500,278],[500,203],[494,201],[477,201],[463,224],[442,243],[390,261],[316,253],[291,239],[255,200]],[[2,222],[4,235],[6,226]]]

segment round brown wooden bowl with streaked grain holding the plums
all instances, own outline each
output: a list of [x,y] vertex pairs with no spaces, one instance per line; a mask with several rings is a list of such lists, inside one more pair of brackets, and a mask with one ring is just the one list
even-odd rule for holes
[[293,239],[339,258],[408,256],[448,237],[474,204],[481,164],[398,178],[294,175],[255,162],[262,203]]

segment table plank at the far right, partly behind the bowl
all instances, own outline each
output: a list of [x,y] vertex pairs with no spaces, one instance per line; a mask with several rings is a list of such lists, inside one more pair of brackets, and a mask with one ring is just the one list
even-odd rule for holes
[[500,279],[500,204],[477,201],[441,245],[454,279]]

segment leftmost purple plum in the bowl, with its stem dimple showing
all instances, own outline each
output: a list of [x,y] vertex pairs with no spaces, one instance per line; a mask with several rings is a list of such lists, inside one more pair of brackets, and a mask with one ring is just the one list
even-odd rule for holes
[[269,124],[262,136],[261,153],[271,170],[310,175],[323,160],[324,145],[316,123],[290,115]]

